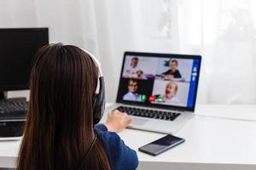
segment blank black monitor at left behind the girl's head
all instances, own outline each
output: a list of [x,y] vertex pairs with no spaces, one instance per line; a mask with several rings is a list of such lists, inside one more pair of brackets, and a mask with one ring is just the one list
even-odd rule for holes
[[0,91],[28,89],[35,54],[48,43],[48,28],[0,29]]

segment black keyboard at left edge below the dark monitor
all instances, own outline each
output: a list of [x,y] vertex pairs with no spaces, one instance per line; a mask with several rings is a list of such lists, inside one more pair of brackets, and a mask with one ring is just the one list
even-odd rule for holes
[[25,119],[27,101],[24,98],[1,99],[0,120]]

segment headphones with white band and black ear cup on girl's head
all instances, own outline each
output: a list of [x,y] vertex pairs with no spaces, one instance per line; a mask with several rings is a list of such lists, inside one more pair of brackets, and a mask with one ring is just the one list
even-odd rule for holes
[[90,58],[94,61],[96,67],[98,68],[99,82],[97,86],[99,85],[99,91],[93,96],[93,125],[96,125],[98,122],[101,121],[103,113],[105,111],[105,82],[104,77],[102,76],[101,64],[98,59],[96,59],[96,57],[88,50],[84,48],[81,49],[90,56]]

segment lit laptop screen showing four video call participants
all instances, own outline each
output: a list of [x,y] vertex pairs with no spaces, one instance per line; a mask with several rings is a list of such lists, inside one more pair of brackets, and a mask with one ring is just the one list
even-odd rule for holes
[[195,110],[201,56],[126,52],[118,103]]

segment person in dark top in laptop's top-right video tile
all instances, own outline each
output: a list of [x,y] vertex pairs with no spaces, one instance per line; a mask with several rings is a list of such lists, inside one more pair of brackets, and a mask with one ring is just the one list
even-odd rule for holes
[[166,79],[171,79],[171,78],[181,78],[180,72],[177,70],[177,60],[172,59],[169,62],[169,67],[170,69],[166,72],[162,73],[162,76]]

